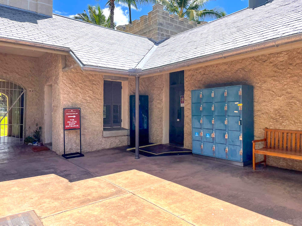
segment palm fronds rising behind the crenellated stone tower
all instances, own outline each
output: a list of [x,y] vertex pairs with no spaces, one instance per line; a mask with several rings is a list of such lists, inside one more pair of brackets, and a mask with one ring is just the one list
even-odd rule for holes
[[159,3],[164,5],[170,14],[177,14],[180,18],[189,20],[213,20],[226,15],[222,8],[205,8],[209,1],[211,0],[159,0]]

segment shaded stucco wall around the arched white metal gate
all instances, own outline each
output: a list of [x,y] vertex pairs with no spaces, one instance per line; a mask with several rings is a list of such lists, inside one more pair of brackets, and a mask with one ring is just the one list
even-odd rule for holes
[[36,128],[36,123],[43,124],[41,104],[43,98],[39,80],[39,59],[0,53],[0,76],[8,77],[15,83],[20,83],[26,90],[26,112],[24,122],[24,137],[30,135]]

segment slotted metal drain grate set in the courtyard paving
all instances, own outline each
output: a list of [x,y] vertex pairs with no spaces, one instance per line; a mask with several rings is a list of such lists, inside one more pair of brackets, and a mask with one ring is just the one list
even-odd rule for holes
[[0,226],[43,226],[43,224],[32,210],[0,218]]

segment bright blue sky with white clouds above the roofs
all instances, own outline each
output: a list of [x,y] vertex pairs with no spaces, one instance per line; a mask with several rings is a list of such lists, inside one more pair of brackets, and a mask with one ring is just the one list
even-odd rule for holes
[[[83,12],[87,5],[99,4],[106,16],[109,15],[108,9],[105,8],[107,0],[96,2],[95,0],[53,0],[53,12],[56,14],[72,17],[77,13]],[[219,6],[223,8],[227,14],[236,12],[248,6],[248,0],[216,0],[210,1],[207,8],[214,8]],[[152,10],[152,5],[139,7],[138,10],[132,9],[132,20],[139,19],[142,15],[147,15]],[[128,24],[129,11],[128,7],[117,5],[114,12],[114,20],[117,25]]]

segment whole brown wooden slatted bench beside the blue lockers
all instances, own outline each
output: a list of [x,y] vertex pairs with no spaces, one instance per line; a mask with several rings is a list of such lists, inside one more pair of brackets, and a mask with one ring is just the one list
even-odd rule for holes
[[[266,166],[266,155],[278,156],[289,159],[302,160],[302,131],[296,130],[275,130],[265,128],[264,139],[253,140],[253,169],[256,164],[264,163]],[[255,143],[265,142],[263,148],[255,149]],[[255,162],[255,154],[264,155],[264,160]]]

